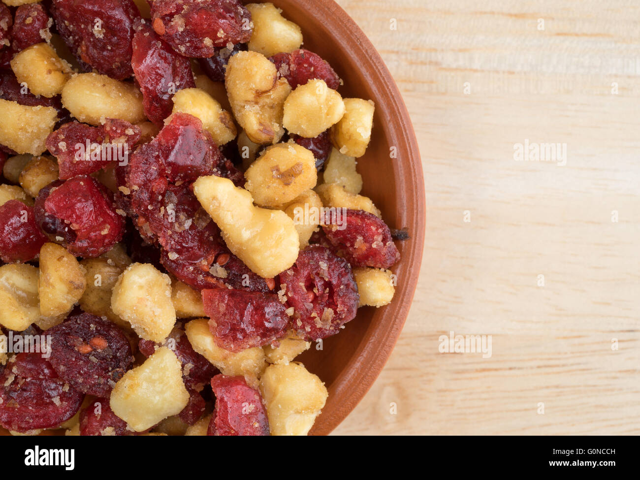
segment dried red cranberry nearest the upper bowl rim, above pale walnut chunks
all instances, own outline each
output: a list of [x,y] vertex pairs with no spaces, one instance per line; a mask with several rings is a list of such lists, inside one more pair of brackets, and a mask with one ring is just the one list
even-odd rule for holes
[[340,86],[340,77],[335,73],[331,65],[321,56],[305,49],[295,50],[291,53],[278,53],[269,58],[278,68],[280,77],[285,77],[291,88],[305,85],[309,80],[321,79],[329,88],[337,90]]

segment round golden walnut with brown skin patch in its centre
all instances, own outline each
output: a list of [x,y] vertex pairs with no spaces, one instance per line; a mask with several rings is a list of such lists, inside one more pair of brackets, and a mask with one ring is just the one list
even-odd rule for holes
[[316,160],[297,143],[278,143],[268,147],[244,176],[244,187],[257,205],[280,207],[316,186]]

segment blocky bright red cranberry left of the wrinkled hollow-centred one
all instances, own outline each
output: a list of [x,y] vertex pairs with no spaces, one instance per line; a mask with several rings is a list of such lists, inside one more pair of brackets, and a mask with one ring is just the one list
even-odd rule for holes
[[216,344],[238,352],[284,337],[289,316],[276,294],[230,289],[202,291],[209,330]]

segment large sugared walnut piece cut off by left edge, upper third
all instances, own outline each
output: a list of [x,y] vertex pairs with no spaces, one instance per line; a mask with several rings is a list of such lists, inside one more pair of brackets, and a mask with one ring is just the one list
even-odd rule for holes
[[17,154],[40,155],[58,120],[52,107],[21,105],[0,99],[0,144]]

